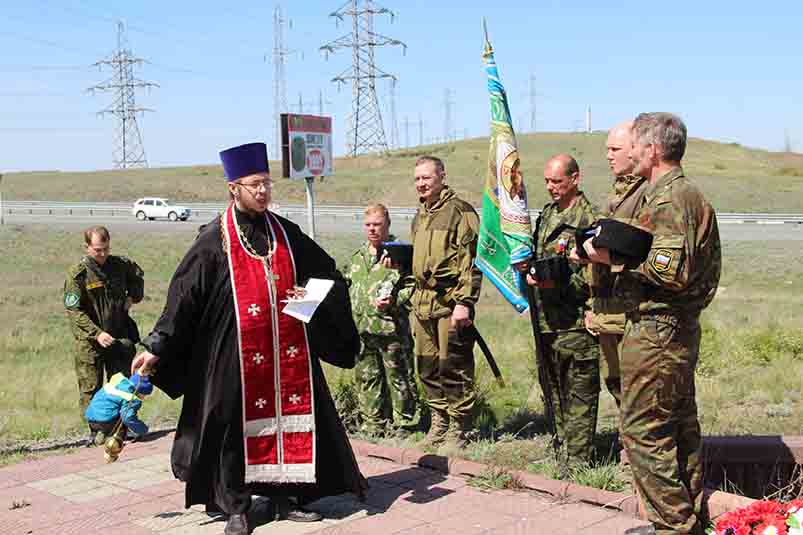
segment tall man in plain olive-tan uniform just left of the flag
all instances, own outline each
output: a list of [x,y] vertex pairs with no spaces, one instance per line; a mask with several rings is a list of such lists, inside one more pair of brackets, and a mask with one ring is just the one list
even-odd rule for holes
[[412,223],[414,286],[410,303],[418,375],[432,414],[422,447],[462,448],[476,401],[474,337],[468,332],[480,296],[482,273],[474,266],[479,217],[444,182],[443,162],[415,163],[421,206]]

